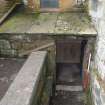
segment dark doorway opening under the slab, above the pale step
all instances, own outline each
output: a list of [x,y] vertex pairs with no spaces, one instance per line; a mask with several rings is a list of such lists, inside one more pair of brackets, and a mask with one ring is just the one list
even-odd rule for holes
[[56,83],[63,85],[82,84],[82,40],[56,41]]

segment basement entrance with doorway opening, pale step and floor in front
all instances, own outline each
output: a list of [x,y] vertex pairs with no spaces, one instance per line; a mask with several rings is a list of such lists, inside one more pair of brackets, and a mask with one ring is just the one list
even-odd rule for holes
[[85,40],[56,41],[56,90],[51,105],[84,105],[82,62]]

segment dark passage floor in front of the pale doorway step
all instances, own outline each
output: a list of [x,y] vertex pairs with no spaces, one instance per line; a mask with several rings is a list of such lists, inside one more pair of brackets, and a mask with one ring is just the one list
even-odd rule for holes
[[84,94],[80,91],[56,91],[50,105],[84,105]]

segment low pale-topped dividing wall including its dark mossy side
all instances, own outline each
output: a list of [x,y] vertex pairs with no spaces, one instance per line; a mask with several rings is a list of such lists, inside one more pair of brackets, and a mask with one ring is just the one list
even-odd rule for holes
[[46,51],[32,52],[0,100],[0,105],[42,105],[42,100],[43,105],[48,105],[53,79],[48,75],[48,62]]

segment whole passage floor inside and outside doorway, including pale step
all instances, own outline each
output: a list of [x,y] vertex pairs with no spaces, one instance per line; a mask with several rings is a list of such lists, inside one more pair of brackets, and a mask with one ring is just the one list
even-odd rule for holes
[[80,66],[60,64],[57,70],[56,92],[50,105],[84,105],[85,95],[82,88]]

